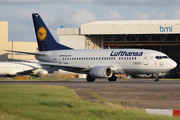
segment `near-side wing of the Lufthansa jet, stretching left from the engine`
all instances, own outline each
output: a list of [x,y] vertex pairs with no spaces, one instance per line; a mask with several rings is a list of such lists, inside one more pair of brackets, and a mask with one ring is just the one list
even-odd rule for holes
[[46,65],[46,66],[51,66],[51,67],[90,69],[90,66],[88,65],[59,64],[59,63],[52,63],[52,62],[32,62],[32,63],[38,63],[41,65]]

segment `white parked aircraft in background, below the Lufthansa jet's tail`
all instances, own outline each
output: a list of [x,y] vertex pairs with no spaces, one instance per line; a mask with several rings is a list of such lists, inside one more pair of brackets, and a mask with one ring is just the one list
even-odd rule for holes
[[55,71],[55,68],[50,68],[49,66],[42,66],[37,63],[0,62],[0,75],[4,75],[4,76],[15,76],[15,75],[39,76],[39,75],[48,74],[54,71]]

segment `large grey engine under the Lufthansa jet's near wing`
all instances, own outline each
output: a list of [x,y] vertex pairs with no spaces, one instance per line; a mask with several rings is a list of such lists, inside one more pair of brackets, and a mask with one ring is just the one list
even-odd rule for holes
[[110,78],[112,74],[111,68],[106,66],[94,67],[89,71],[92,78]]

